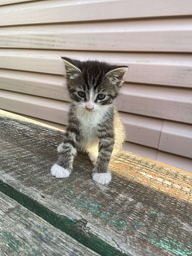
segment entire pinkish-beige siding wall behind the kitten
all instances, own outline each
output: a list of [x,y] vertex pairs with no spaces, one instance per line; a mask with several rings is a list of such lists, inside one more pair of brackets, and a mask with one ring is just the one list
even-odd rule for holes
[[125,149],[192,171],[190,0],[0,5],[0,108],[67,125],[60,56],[125,64]]

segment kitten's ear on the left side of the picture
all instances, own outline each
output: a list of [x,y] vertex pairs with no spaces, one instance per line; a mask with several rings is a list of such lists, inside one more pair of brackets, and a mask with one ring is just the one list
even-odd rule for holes
[[74,61],[72,59],[65,57],[61,58],[63,59],[65,65],[67,79],[75,79],[82,73],[82,71],[73,64]]

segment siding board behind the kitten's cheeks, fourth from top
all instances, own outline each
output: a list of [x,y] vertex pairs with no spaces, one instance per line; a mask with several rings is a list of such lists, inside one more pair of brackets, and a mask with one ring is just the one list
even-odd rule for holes
[[[1,89],[69,101],[64,79],[39,73],[0,70]],[[117,106],[119,111],[192,123],[191,89],[125,83]],[[169,111],[167,111],[169,109]]]

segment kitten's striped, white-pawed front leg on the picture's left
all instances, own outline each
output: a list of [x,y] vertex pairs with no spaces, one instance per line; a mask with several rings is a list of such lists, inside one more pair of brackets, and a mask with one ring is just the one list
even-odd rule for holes
[[73,170],[73,158],[78,144],[78,130],[67,127],[63,142],[58,146],[59,157],[57,163],[51,167],[51,174],[56,178],[67,178]]

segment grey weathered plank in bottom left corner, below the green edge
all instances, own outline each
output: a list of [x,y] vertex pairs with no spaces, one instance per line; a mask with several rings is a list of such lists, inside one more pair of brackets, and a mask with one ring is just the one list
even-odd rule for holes
[[0,254],[98,255],[0,192]]

